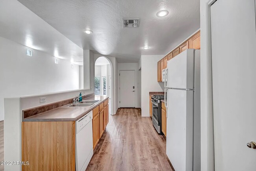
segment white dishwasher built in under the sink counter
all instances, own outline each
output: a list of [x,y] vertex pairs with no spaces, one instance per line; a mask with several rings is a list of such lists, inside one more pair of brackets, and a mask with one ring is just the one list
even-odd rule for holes
[[76,121],[76,171],[85,171],[93,156],[93,112]]

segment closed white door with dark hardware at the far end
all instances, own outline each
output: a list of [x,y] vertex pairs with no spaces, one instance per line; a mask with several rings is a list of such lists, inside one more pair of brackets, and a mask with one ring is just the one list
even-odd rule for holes
[[135,107],[135,71],[120,71],[120,107]]

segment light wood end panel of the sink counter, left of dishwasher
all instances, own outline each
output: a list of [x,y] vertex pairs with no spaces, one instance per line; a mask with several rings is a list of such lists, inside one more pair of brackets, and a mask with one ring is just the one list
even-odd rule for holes
[[75,171],[75,121],[22,122],[23,171]]

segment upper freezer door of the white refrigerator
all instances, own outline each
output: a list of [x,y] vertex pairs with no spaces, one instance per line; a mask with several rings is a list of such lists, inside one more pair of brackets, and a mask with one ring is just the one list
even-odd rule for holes
[[194,50],[187,49],[167,62],[167,87],[194,88]]

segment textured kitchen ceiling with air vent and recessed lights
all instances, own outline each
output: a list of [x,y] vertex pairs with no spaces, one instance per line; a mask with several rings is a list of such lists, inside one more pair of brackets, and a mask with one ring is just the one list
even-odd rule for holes
[[[141,55],[164,55],[200,27],[200,0],[19,0],[83,49],[137,62]],[[169,14],[156,16],[161,9]],[[140,18],[123,28],[122,18]],[[91,29],[93,34],[83,33]],[[143,49],[149,46],[150,49]]]

